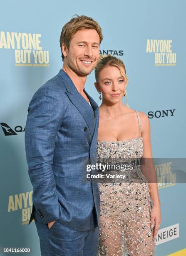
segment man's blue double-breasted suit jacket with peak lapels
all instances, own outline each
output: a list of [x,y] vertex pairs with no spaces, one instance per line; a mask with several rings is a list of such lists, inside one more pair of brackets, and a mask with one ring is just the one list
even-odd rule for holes
[[58,220],[74,230],[99,226],[98,183],[82,182],[84,163],[96,164],[99,107],[84,92],[92,107],[60,69],[30,101],[25,127],[33,185],[30,222],[38,214],[41,223]]

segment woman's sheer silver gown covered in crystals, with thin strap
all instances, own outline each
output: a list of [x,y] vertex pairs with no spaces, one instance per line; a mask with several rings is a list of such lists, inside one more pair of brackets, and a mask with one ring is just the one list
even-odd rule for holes
[[[97,159],[141,158],[143,141],[140,137],[126,141],[97,141]],[[142,182],[99,183],[101,214],[97,255],[154,256],[155,238],[151,229],[152,200],[148,181],[141,169],[134,170]]]

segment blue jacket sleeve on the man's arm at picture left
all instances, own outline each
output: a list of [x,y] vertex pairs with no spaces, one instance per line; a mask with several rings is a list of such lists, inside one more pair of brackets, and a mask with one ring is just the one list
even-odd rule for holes
[[28,174],[33,186],[33,204],[42,223],[60,218],[52,162],[63,110],[60,95],[51,87],[40,87],[28,107],[25,126]]

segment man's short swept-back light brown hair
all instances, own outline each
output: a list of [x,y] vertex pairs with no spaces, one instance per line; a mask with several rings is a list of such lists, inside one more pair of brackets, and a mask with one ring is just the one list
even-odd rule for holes
[[[67,22],[61,31],[61,36],[60,36],[60,48],[62,47],[62,44],[64,43],[67,49],[69,49],[70,46],[70,40],[71,37],[81,29],[95,29],[99,35],[99,44],[101,44],[103,40],[103,35],[102,35],[102,28],[99,26],[97,21],[93,20],[90,17],[87,17],[85,15],[77,15],[75,14],[69,22]],[[62,49],[61,49],[62,53]],[[62,53],[62,60],[64,60],[64,55]]]

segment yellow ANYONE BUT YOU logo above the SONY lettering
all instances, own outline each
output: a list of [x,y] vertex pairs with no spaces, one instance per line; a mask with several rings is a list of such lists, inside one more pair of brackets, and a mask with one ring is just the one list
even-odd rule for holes
[[155,66],[176,66],[176,53],[172,52],[172,40],[147,39],[146,53],[154,53]]

